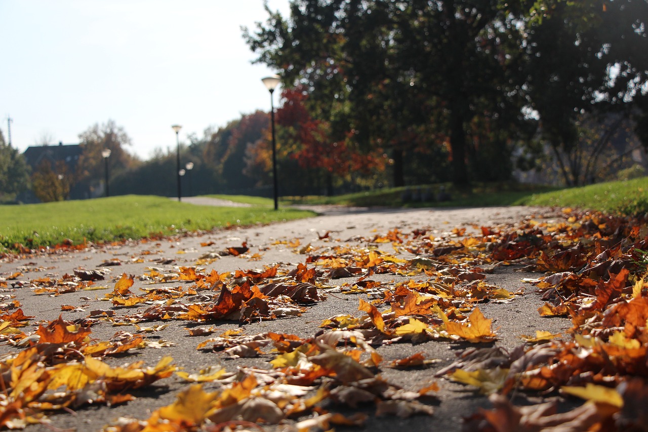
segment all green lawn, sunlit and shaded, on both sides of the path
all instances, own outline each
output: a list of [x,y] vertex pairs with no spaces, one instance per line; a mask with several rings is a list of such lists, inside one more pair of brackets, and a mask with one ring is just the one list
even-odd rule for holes
[[[442,185],[364,191],[337,197],[282,198],[282,204],[341,204],[346,206],[469,207],[559,206],[624,214],[648,213],[648,177],[622,182],[556,189],[520,184],[474,184],[457,190],[444,184],[452,199],[403,200],[413,192],[435,195]],[[195,206],[165,197],[127,195],[93,200],[0,206],[0,251],[52,246],[66,242],[101,243],[211,230],[230,225],[263,224],[312,216],[310,211],[272,210],[271,198],[211,195],[253,207]]]

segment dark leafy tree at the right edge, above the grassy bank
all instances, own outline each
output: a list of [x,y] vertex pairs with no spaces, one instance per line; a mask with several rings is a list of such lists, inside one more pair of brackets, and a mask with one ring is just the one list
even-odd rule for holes
[[[596,176],[592,158],[605,148],[583,147],[592,141],[590,132],[603,130],[594,139],[602,143],[611,133],[610,116],[620,125],[635,113],[645,115],[648,7],[636,0],[547,1],[544,10],[541,20],[529,21],[523,45],[528,108],[540,119],[565,184],[577,186]],[[593,127],[595,118],[600,123]],[[641,128],[641,119],[637,124]]]

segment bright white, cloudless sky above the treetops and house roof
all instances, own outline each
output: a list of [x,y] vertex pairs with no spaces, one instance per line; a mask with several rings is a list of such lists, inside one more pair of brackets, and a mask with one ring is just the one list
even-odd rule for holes
[[[270,110],[242,25],[268,18],[263,0],[0,0],[0,130],[20,151],[76,144],[113,120],[142,159],[174,149],[171,126],[208,126]],[[288,15],[288,0],[268,0]],[[275,92],[275,98],[277,93]],[[275,99],[275,104],[277,100]]]

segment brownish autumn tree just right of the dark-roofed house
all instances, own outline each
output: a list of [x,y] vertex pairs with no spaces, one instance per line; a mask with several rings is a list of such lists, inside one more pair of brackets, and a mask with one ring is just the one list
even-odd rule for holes
[[130,138],[115,121],[108,120],[103,125],[98,123],[79,134],[82,154],[76,165],[75,180],[87,182],[96,187],[104,179],[103,150],[110,150],[110,173],[117,176],[139,163],[139,160],[126,151],[131,145]]

